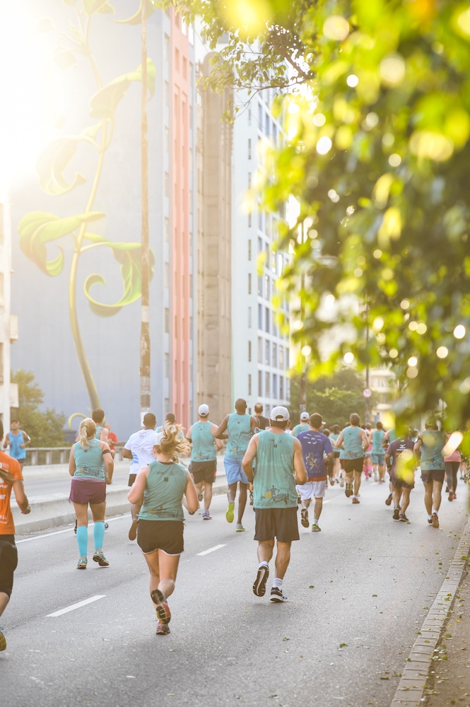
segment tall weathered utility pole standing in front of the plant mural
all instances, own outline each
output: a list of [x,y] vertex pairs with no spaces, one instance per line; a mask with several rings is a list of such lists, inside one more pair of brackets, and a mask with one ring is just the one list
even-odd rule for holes
[[141,122],[141,187],[142,187],[142,234],[141,234],[141,423],[150,411],[150,326],[148,319],[148,281],[150,252],[148,246],[148,118],[147,118],[147,2],[142,1],[141,19],[142,52],[142,122]]

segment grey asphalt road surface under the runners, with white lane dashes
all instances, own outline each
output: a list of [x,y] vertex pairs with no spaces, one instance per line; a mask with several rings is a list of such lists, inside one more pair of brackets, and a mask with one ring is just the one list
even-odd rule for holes
[[91,562],[77,571],[70,530],[23,540],[1,619],[1,705],[385,707],[465,525],[462,483],[458,493],[457,502],[442,502],[435,530],[421,481],[410,525],[392,520],[385,486],[363,482],[359,506],[329,489],[322,532],[301,528],[293,544],[286,604],[269,602],[271,581],[263,599],[252,593],[252,509],[247,532],[235,533],[216,497],[211,522],[186,522],[170,636],[155,636],[148,571],[127,539],[129,518],[110,522],[109,568]]

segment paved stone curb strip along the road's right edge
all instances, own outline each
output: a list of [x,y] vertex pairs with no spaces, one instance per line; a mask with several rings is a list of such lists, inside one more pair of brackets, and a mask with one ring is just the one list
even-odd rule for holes
[[406,659],[403,674],[396,688],[391,707],[418,707],[423,704],[423,694],[428,672],[433,665],[433,655],[442,636],[455,595],[462,581],[470,549],[470,520],[466,523],[459,545],[450,563],[447,576],[437,593],[418,638]]

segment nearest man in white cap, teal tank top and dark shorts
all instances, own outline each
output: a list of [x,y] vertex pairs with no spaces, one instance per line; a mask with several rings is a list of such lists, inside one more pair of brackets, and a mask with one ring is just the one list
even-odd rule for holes
[[[286,602],[283,578],[290,561],[290,544],[299,539],[297,491],[295,484],[307,481],[307,472],[299,440],[286,433],[289,411],[274,407],[270,427],[254,435],[245,456],[243,469],[253,482],[259,567],[253,592],[264,597],[269,577],[269,561],[277,539],[276,576],[271,589],[271,602]],[[256,469],[253,462],[256,459]]]

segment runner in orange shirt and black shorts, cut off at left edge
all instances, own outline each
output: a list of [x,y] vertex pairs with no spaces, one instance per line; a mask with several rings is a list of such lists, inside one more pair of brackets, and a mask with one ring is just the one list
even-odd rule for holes
[[[0,420],[0,442],[4,438],[4,423]],[[21,513],[30,513],[30,504],[23,486],[23,474],[18,460],[0,452],[0,617],[4,613],[13,589],[13,573],[18,564],[15,544],[15,524],[11,513],[11,489]],[[5,650],[6,638],[0,626],[0,650]]]

